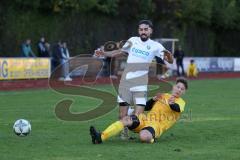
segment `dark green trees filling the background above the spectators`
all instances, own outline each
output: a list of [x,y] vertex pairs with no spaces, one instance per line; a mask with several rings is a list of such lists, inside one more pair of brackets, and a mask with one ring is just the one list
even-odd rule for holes
[[154,22],[153,37],[179,38],[187,55],[238,56],[238,0],[12,0],[0,2],[0,53],[19,54],[31,37],[68,41],[73,54],[91,53],[108,40],[135,34],[136,22]]

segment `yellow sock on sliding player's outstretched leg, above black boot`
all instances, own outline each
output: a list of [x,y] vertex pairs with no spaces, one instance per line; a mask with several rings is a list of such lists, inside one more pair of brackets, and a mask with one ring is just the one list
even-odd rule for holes
[[102,141],[117,135],[121,130],[123,130],[124,125],[121,121],[116,121],[110,126],[108,126],[101,134]]

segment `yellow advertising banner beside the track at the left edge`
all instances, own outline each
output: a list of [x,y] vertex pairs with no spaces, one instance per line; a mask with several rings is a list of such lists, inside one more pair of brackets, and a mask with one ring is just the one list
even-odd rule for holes
[[0,80],[49,78],[49,58],[0,58]]

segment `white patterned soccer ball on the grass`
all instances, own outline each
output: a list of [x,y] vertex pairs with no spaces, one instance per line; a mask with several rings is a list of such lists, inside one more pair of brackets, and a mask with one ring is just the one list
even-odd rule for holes
[[13,132],[21,137],[27,136],[31,132],[31,124],[25,119],[18,119],[13,125]]

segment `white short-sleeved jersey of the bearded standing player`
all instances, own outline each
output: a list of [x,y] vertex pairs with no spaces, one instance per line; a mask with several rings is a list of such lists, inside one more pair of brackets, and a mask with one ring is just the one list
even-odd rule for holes
[[[122,51],[128,53],[127,64],[125,67],[125,74],[122,80],[130,80],[137,77],[148,76],[149,66],[155,56],[163,59],[163,50],[165,48],[158,42],[151,39],[143,42],[140,37],[131,37],[128,39],[131,46],[127,47],[127,43],[123,46]],[[134,64],[134,65],[132,65]],[[136,65],[135,65],[136,64]],[[131,66],[132,65],[132,66]],[[135,66],[135,68],[134,68]],[[140,82],[141,84],[143,82]],[[145,85],[131,87],[132,91],[146,91],[147,81]]]

